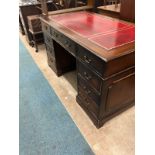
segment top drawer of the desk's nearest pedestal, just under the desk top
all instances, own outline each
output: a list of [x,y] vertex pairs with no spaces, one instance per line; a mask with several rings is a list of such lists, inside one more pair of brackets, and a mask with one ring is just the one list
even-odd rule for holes
[[77,55],[78,58],[82,60],[86,65],[92,67],[100,75],[103,74],[105,65],[103,60],[81,46],[77,47]]

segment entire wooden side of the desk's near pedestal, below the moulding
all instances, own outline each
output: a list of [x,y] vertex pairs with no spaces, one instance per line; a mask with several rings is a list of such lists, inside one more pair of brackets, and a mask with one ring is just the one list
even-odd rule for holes
[[[134,104],[135,68],[130,68],[103,82],[99,120],[104,122],[113,114]],[[123,110],[124,109],[124,110]]]

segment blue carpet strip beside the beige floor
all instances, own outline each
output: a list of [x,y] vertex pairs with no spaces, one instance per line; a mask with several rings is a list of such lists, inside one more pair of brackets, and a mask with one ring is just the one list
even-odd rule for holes
[[19,154],[94,154],[19,41]]

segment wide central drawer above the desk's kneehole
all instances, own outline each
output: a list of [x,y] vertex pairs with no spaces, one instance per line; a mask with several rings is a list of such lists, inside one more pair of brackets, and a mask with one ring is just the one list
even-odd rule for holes
[[51,36],[68,52],[70,52],[74,56],[76,55],[76,44],[71,39],[69,39],[55,29],[51,29]]

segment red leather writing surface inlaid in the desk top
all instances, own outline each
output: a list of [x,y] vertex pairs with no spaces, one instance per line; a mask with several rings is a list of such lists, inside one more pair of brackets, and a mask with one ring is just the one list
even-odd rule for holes
[[53,15],[50,19],[107,50],[135,40],[135,27],[132,24],[95,13],[71,12]]

